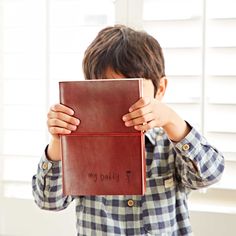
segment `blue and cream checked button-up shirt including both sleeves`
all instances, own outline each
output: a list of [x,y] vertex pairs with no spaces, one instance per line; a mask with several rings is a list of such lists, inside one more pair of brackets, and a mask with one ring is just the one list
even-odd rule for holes
[[178,143],[159,128],[145,138],[144,196],[63,196],[61,162],[44,155],[32,182],[35,202],[57,211],[75,200],[78,235],[191,235],[187,195],[219,180],[223,156],[194,128]]

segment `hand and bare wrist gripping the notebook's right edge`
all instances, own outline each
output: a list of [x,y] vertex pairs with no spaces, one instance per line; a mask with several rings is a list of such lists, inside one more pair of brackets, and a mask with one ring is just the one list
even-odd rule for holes
[[176,112],[154,98],[140,98],[122,119],[127,127],[134,126],[139,131],[162,127],[175,142],[183,139],[190,131],[190,127]]

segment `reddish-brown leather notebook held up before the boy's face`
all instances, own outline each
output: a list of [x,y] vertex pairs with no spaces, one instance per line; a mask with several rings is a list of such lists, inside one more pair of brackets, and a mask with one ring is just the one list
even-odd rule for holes
[[61,136],[64,195],[142,195],[144,136],[122,116],[142,96],[142,79],[60,82],[60,102],[80,119]]

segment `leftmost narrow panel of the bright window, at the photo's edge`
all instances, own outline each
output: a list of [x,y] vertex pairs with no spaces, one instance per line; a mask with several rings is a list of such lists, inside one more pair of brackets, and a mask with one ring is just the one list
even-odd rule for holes
[[46,143],[45,6],[8,0],[0,7],[1,197],[28,198],[36,156]]

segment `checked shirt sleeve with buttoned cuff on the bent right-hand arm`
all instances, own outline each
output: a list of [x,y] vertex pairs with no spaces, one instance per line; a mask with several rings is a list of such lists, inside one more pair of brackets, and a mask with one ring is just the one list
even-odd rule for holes
[[178,177],[186,187],[207,187],[221,178],[223,155],[194,128],[183,140],[175,143],[174,148]]

